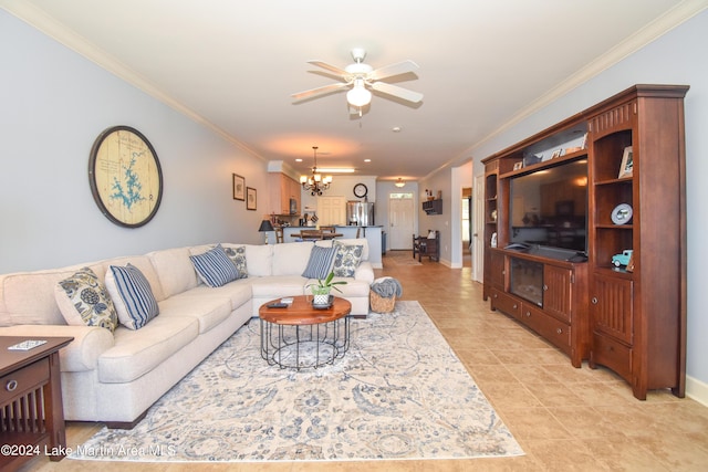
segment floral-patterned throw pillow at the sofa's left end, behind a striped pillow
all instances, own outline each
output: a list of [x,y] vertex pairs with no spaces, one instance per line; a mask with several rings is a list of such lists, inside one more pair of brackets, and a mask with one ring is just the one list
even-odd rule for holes
[[54,286],[54,298],[67,325],[100,326],[111,333],[118,325],[111,295],[90,268],[60,281]]

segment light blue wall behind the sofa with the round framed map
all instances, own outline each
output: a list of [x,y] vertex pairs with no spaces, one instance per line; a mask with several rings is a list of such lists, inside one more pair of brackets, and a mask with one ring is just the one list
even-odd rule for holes
[[[260,243],[261,211],[232,199],[231,174],[268,208],[266,162],[0,10],[0,273],[215,241]],[[139,129],[164,193],[138,229],[108,221],[88,186],[107,127]],[[263,211],[266,212],[266,211]]]

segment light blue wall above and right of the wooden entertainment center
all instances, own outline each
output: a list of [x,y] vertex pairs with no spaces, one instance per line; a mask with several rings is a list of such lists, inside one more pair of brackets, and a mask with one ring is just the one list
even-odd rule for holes
[[688,84],[686,96],[686,169],[688,218],[687,375],[708,384],[708,10],[671,30],[518,126],[473,149],[479,162],[552,124],[581,112],[633,84]]

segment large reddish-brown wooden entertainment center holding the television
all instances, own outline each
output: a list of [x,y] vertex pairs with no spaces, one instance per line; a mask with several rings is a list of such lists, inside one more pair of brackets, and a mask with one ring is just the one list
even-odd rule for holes
[[685,395],[688,88],[634,85],[482,160],[485,300],[642,400]]

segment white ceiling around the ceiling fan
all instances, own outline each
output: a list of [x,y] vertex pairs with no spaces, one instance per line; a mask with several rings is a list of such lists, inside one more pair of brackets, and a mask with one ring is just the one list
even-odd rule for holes
[[[264,160],[308,171],[316,145],[321,167],[419,179],[468,161],[475,145],[706,1],[0,0],[0,7]],[[364,48],[374,69],[415,61],[417,78],[396,84],[423,93],[423,103],[375,95],[361,118],[350,117],[344,93],[293,103],[291,94],[333,82],[310,73],[317,67],[306,61],[344,67],[353,48]]]

